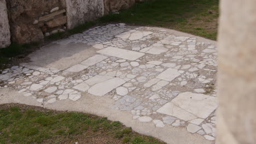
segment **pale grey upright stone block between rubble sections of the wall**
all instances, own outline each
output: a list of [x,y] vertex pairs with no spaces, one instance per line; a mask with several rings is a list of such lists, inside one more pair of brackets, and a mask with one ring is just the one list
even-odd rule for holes
[[103,0],[66,0],[66,9],[68,29],[104,15]]

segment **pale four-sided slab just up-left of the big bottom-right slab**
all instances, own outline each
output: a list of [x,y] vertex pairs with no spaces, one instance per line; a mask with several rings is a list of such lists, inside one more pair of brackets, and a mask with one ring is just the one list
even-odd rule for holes
[[176,77],[178,77],[179,75],[181,75],[177,69],[166,69],[165,71],[163,71],[161,74],[159,74],[158,76],[156,76],[156,78],[161,79],[161,80],[165,80],[165,81],[172,81],[174,79],[176,79]]

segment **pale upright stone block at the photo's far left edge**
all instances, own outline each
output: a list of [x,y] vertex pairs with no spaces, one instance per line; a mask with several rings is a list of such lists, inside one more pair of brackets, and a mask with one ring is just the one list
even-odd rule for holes
[[5,0],[0,0],[0,48],[10,45],[10,26]]

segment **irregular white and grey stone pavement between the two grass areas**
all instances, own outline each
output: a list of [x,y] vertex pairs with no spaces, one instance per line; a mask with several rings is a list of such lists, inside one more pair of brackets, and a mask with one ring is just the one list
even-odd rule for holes
[[[32,62],[3,70],[0,91],[13,89],[43,106],[61,101],[72,105],[86,94],[106,101],[110,97],[109,110],[130,112],[138,123],[183,127],[214,141],[215,44],[162,28],[123,23],[95,27],[50,44],[60,50],[48,51],[46,45],[32,53]],[[81,50],[66,56],[78,45]]]

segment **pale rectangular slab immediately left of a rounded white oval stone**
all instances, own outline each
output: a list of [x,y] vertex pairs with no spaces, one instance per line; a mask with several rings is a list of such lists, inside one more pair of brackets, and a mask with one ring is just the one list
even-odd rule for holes
[[102,97],[103,95],[112,91],[114,88],[123,85],[125,82],[125,80],[114,77],[113,79],[97,83],[96,85],[92,86],[90,89],[88,89],[88,93]]

